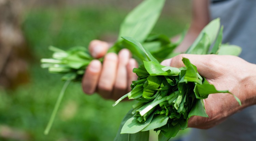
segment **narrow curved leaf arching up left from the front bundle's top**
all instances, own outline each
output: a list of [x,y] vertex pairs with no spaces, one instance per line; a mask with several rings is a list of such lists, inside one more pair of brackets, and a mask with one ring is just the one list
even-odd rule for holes
[[122,38],[125,39],[125,40],[127,40],[127,41],[129,41],[129,42],[131,42],[131,43],[133,43],[133,44],[136,45],[139,49],[141,49],[141,50],[146,54],[147,59],[148,59],[149,61],[154,61],[155,63],[159,63],[159,62],[156,60],[156,58],[154,58],[154,57],[152,56],[152,54],[151,54],[146,48],[144,48],[144,47],[141,45],[141,43],[140,43],[139,41],[137,41],[136,39],[131,38],[131,37],[122,37]]

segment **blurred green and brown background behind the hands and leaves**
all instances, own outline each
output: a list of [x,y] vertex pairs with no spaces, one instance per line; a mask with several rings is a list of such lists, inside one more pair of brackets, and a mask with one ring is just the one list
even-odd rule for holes
[[[119,25],[142,0],[0,0],[0,140],[112,141],[134,101],[83,93],[72,83],[49,135],[44,129],[64,82],[40,68],[48,46],[88,46],[115,41]],[[153,32],[181,33],[191,19],[191,2],[167,0]],[[180,134],[184,135],[187,131]],[[157,140],[152,131],[150,140]]]

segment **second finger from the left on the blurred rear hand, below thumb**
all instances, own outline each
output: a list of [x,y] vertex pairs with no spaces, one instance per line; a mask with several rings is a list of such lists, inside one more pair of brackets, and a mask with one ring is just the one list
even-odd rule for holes
[[98,85],[98,92],[103,98],[111,98],[116,78],[117,63],[118,57],[115,53],[108,53],[104,58]]

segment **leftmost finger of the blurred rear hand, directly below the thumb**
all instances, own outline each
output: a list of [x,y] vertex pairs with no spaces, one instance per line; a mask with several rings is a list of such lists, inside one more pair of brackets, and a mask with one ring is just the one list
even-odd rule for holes
[[101,72],[99,60],[92,60],[88,65],[82,80],[82,88],[85,93],[93,94],[96,90]]

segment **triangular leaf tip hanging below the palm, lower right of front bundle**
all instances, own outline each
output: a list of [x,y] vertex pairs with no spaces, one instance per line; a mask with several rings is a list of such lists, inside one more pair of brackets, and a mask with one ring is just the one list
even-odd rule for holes
[[190,112],[188,114],[188,118],[190,118],[192,116],[201,116],[201,117],[206,117],[206,118],[209,117],[207,115],[207,113],[205,112],[205,108],[204,108],[204,104],[203,104],[202,99],[197,99],[196,103],[194,104],[194,106],[190,110]]

